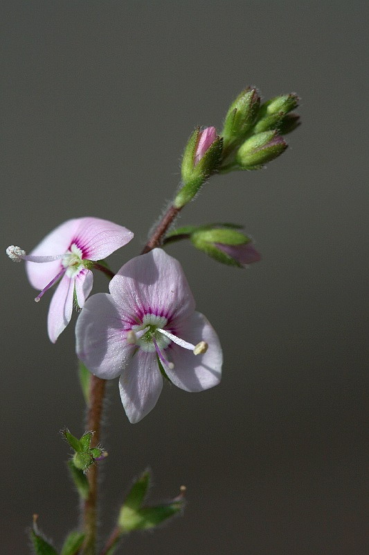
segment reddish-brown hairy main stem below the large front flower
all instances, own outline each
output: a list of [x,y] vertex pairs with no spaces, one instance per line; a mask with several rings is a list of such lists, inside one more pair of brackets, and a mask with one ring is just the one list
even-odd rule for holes
[[[87,429],[95,432],[91,439],[91,447],[96,447],[100,441],[100,421],[102,400],[105,392],[105,379],[91,375],[89,392],[89,410],[87,412]],[[83,555],[95,555],[96,549],[96,502],[98,497],[98,465],[90,466],[87,478],[89,480],[89,497],[84,502],[84,540]]]

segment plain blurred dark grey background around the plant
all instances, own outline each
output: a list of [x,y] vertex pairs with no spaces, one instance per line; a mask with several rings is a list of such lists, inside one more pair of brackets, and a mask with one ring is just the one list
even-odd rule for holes
[[[215,177],[178,222],[244,223],[262,262],[221,266],[189,244],[183,264],[224,348],[222,384],[165,387],[129,425],[109,383],[101,521],[150,466],[152,499],[188,506],[131,554],[368,553],[364,519],[368,193],[366,2],[1,3],[1,234],[30,250],[66,219],[100,216],[136,255],[179,183],[195,125],[222,124],[247,85],[296,91],[303,126],[260,172]],[[73,325],[48,342],[51,295],[1,271],[1,553],[27,554],[33,513],[60,545],[78,498],[58,431],[84,431]],[[105,291],[105,278],[95,291]]]

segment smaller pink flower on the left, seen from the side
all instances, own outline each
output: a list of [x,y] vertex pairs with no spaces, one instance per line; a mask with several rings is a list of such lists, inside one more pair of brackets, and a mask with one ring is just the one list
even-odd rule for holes
[[36,302],[60,280],[48,310],[48,336],[53,343],[71,321],[73,296],[82,308],[91,292],[93,274],[89,268],[93,262],[111,255],[131,239],[133,233],[122,225],[87,217],[62,223],[30,255],[13,245],[7,248],[8,256],[15,262],[26,260],[30,284],[42,290]]

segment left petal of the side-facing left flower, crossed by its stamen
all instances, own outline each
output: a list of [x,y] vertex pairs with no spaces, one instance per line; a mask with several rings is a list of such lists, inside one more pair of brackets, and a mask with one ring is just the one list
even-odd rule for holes
[[[78,229],[78,222],[78,219],[64,221],[64,223],[46,235],[29,254],[35,256],[64,255],[71,245],[75,231]],[[44,264],[26,261],[28,280],[30,280],[30,284],[35,289],[44,289],[61,269],[61,260],[44,262]]]

